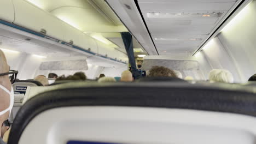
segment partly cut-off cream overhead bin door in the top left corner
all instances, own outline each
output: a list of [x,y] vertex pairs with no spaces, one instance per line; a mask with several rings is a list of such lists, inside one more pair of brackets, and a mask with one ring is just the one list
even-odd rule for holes
[[14,8],[11,0],[0,1],[0,19],[8,22],[14,21]]

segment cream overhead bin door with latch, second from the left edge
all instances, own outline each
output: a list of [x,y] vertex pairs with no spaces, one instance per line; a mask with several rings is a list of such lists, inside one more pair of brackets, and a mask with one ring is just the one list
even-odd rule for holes
[[36,32],[44,29],[46,35],[63,40],[65,29],[68,26],[66,23],[26,1],[13,0],[13,3],[15,8],[14,23],[16,25]]

